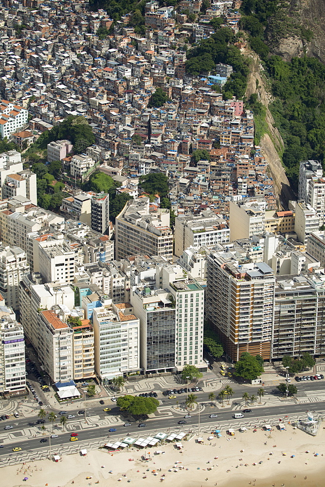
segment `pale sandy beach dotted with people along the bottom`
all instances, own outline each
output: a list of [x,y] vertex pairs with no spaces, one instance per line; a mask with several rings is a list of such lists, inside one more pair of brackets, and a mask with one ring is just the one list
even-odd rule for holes
[[[94,486],[98,480],[99,486],[121,487],[126,484],[149,487],[161,484],[168,487],[175,484],[178,487],[325,485],[323,429],[319,430],[317,436],[293,430],[290,425],[286,431],[276,429],[270,433],[259,428],[256,432],[253,429],[242,433],[236,431],[235,436],[231,437],[222,431],[222,435],[210,441],[207,440],[209,434],[201,434],[204,444],[197,443],[196,435],[190,435],[190,441],[181,442],[181,450],[171,443],[159,444],[151,449],[130,448],[115,453],[106,449],[93,450],[85,457],[80,454],[63,455],[58,463],[45,459],[27,462],[24,466],[5,467],[0,469],[0,487],[88,487]],[[81,441],[79,445],[80,450]],[[165,453],[155,454],[157,450]],[[150,461],[142,460],[144,452],[147,456],[150,452]],[[316,453],[318,456],[315,456]],[[291,455],[295,456],[291,458]],[[163,481],[162,474],[165,474]],[[25,476],[28,480],[23,482]],[[129,483],[128,479],[131,479]]]

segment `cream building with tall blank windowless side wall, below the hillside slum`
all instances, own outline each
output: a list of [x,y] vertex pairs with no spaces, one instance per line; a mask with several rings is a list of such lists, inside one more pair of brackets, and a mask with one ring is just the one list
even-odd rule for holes
[[229,202],[230,241],[248,239],[264,232],[265,201],[244,199]]

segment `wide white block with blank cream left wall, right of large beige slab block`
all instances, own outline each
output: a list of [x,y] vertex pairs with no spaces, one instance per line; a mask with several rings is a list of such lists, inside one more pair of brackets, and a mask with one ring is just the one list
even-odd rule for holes
[[211,210],[175,219],[175,255],[178,257],[188,247],[205,245],[212,248],[216,244],[229,242],[229,238],[230,229],[226,220]]

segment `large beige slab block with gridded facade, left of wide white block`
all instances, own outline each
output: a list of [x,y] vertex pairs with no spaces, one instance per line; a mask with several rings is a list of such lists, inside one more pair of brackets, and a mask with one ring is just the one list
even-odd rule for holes
[[173,232],[169,227],[169,210],[149,210],[149,198],[126,203],[115,219],[115,256],[159,255],[173,259]]

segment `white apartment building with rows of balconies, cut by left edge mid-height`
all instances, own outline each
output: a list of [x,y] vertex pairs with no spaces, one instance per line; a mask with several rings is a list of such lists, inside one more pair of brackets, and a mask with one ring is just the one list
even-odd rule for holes
[[0,245],[0,292],[14,310],[19,308],[19,282],[28,274],[26,253],[16,246]]

